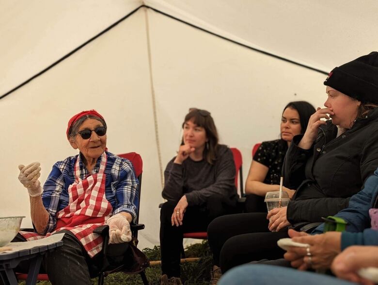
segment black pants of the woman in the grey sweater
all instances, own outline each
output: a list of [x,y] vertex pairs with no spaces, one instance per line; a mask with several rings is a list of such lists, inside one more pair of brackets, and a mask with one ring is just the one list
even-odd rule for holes
[[221,215],[233,213],[236,201],[223,201],[220,196],[211,196],[203,207],[189,206],[184,214],[183,225],[172,226],[171,217],[177,201],[167,201],[160,210],[161,270],[168,277],[180,277],[180,256],[183,234],[206,232],[211,220]]

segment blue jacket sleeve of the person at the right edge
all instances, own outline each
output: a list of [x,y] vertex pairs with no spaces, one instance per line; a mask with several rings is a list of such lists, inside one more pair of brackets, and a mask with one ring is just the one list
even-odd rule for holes
[[[369,209],[373,207],[377,193],[378,169],[366,180],[364,188],[350,198],[349,206],[335,215],[347,221],[347,232],[362,233],[363,230],[370,228]],[[311,234],[322,234],[323,229],[324,223]]]

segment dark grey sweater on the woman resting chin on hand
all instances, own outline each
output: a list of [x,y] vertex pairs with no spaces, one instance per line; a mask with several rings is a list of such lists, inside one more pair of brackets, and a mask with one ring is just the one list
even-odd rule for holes
[[189,206],[194,206],[204,204],[214,194],[229,199],[236,196],[234,158],[227,146],[219,145],[213,165],[205,159],[193,161],[190,157],[180,165],[173,163],[174,159],[164,171],[164,199],[179,201],[185,195]]

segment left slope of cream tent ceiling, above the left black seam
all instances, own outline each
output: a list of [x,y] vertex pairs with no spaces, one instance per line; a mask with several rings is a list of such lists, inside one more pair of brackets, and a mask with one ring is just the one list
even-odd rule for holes
[[0,0],[0,95],[142,4],[141,0]]

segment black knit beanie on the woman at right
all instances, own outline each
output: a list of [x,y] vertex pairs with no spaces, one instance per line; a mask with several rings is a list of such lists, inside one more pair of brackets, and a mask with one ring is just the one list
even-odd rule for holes
[[362,103],[378,104],[378,52],[370,52],[333,68],[324,85]]

